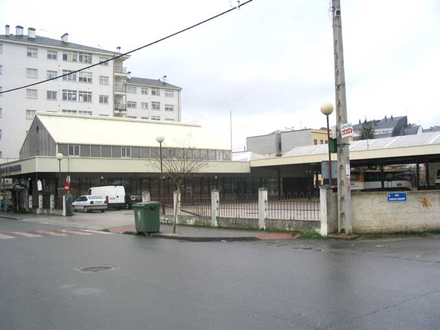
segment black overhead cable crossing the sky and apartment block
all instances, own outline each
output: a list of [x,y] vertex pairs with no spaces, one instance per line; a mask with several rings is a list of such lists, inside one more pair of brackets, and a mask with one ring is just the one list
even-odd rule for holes
[[215,16],[213,16],[213,17],[210,17],[209,19],[206,19],[206,20],[201,21],[201,22],[199,22],[199,23],[197,23],[197,24],[191,25],[191,26],[189,26],[188,28],[185,28],[185,29],[183,29],[183,30],[177,31],[177,32],[175,32],[175,33],[173,33],[173,34],[169,34],[168,36],[164,36],[164,38],[157,39],[156,41],[153,41],[152,43],[148,43],[147,45],[143,45],[142,47],[138,47],[138,48],[136,48],[135,50],[131,50],[130,52],[126,52],[126,53],[124,53],[124,54],[120,54],[120,55],[118,55],[118,56],[115,56],[115,57],[109,58],[109,59],[106,60],[106,61],[98,62],[98,63],[92,64],[92,65],[89,65],[89,66],[87,66],[87,67],[83,67],[83,69],[78,69],[78,70],[76,70],[76,71],[69,72],[68,74],[62,74],[61,76],[56,76],[56,77],[54,77],[54,78],[50,78],[50,79],[46,79],[46,80],[41,80],[41,81],[39,81],[39,82],[37,82],[37,83],[33,83],[33,84],[30,84],[30,85],[25,85],[25,86],[21,86],[21,87],[16,87],[16,88],[8,89],[8,90],[6,90],[6,91],[0,91],[0,94],[5,94],[5,93],[9,93],[10,91],[17,91],[17,90],[19,90],[19,89],[23,89],[23,88],[32,87],[32,86],[35,86],[35,85],[40,85],[40,84],[43,84],[43,83],[47,83],[48,81],[51,81],[51,80],[56,80],[56,79],[58,79],[58,78],[63,78],[63,77],[65,77],[65,76],[69,76],[69,75],[71,75],[71,74],[76,74],[77,72],[81,72],[81,71],[84,71],[84,70],[86,70],[86,69],[90,69],[91,67],[96,67],[96,65],[100,65],[100,64],[102,64],[102,63],[107,63],[107,62],[110,62],[110,61],[114,61],[114,60],[117,59],[117,58],[120,58],[120,57],[122,57],[122,56],[129,55],[129,54],[131,54],[131,53],[133,53],[133,52],[137,52],[138,50],[142,50],[143,48],[149,47],[149,46],[151,46],[151,45],[155,45],[156,43],[160,43],[161,41],[164,41],[164,40],[166,40],[166,39],[169,39],[169,38],[171,38],[171,37],[173,37],[173,36],[177,36],[177,34],[181,34],[181,33],[183,33],[183,32],[186,32],[186,31],[188,31],[188,30],[191,30],[191,29],[193,29],[193,28],[196,28],[196,27],[199,26],[199,25],[202,25],[202,24],[204,24],[204,23],[208,23],[209,21],[212,21],[213,19],[217,19],[218,17],[221,17],[221,16],[223,16],[224,14],[228,14],[228,12],[232,12],[232,10],[240,9],[241,7],[243,7],[243,5],[247,5],[248,3],[252,2],[252,1],[254,1],[254,0],[248,0],[248,1],[245,1],[245,2],[241,3],[240,5],[238,5],[238,6],[234,7],[234,8],[230,8],[229,10],[225,10],[224,12],[221,12],[220,14],[217,14],[217,15],[215,15]]

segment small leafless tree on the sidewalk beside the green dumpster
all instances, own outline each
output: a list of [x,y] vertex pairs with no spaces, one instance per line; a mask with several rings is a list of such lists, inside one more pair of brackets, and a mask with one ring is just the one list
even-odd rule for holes
[[[196,154],[199,153],[199,156]],[[199,159],[196,159],[199,158]],[[168,148],[168,157],[162,159],[163,175],[168,178],[176,189],[176,203],[180,200],[181,186],[186,179],[191,179],[201,173],[201,171],[208,167],[208,164],[200,159],[200,150],[195,148]],[[160,159],[154,163],[154,166],[160,169]],[[163,178],[161,178],[162,180]],[[164,201],[162,201],[163,203]],[[173,234],[176,232],[177,223],[177,206],[174,208],[173,215]]]

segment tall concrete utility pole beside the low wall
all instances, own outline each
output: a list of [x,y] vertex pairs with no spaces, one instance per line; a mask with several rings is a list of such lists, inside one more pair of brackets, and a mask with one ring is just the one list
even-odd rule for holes
[[351,234],[351,187],[349,138],[341,136],[341,125],[347,124],[345,96],[344,48],[340,0],[331,1],[333,17],[333,52],[335,56],[336,133],[338,135],[338,232]]

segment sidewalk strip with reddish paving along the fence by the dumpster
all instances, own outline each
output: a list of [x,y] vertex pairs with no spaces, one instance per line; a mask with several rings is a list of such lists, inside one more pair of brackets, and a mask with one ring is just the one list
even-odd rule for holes
[[[109,232],[136,234],[134,225],[107,228]],[[151,237],[161,239],[179,239],[181,241],[258,241],[261,239],[293,239],[289,233],[266,233],[261,230],[233,230],[223,228],[195,227],[177,225],[173,234],[173,225],[160,225],[160,232],[152,233]]]

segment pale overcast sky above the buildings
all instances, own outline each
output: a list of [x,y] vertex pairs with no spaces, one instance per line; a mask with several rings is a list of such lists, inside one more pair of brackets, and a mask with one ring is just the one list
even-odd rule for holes
[[[440,1],[341,6],[349,121],[393,114],[423,127],[440,124]],[[230,0],[0,1],[0,34],[5,24],[13,33],[23,25],[126,52],[228,8]],[[234,151],[243,150],[246,136],[320,128],[320,104],[335,98],[329,0],[254,0],[135,52],[126,67],[137,77],[168,76],[183,88],[183,121],[228,141],[232,111]]]

